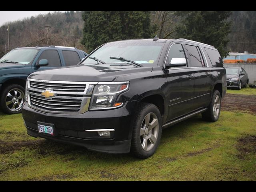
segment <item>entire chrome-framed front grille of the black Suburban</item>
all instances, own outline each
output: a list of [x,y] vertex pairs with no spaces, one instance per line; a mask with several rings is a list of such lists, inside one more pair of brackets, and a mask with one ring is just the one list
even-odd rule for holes
[[[28,105],[42,112],[82,114],[88,111],[94,85],[98,82],[68,82],[28,79]],[[54,96],[42,95],[54,92]]]

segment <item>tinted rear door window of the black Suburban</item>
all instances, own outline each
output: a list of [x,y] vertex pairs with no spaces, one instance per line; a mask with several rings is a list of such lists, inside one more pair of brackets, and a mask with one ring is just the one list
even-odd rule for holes
[[188,52],[188,56],[190,57],[191,67],[204,66],[204,62],[202,62],[202,56],[200,56],[201,52],[197,46],[186,45],[186,50]]

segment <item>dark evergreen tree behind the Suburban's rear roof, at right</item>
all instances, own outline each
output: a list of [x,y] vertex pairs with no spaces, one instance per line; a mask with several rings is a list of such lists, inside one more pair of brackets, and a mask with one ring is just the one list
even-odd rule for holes
[[222,57],[228,55],[226,48],[231,29],[227,18],[232,11],[178,11],[182,24],[176,28],[178,38],[186,38],[213,45]]

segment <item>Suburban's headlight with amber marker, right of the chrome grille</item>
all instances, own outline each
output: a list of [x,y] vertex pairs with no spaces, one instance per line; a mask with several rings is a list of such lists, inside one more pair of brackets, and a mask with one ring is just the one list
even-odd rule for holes
[[129,82],[115,82],[115,84],[98,84],[94,86],[90,110],[112,109],[122,106],[123,102],[116,102],[117,96],[128,90]]

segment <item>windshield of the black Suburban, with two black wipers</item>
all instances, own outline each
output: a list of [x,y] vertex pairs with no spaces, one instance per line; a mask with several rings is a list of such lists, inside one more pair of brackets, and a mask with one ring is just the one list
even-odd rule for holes
[[[111,42],[96,50],[90,55],[90,58],[96,58],[106,64],[130,65],[132,64],[130,61],[133,61],[143,66],[156,66],[163,45],[164,43],[161,42]],[[90,58],[86,58],[81,64],[104,65],[104,63],[97,62],[96,59]],[[124,60],[117,58],[123,58]]]

